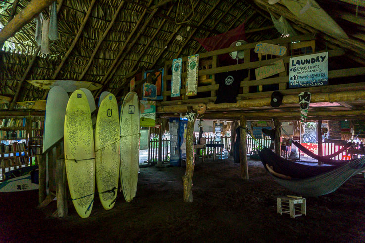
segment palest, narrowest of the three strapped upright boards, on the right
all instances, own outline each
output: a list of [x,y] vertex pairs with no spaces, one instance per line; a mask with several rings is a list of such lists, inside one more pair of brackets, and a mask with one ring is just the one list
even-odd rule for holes
[[139,166],[139,100],[135,92],[126,95],[121,109],[120,160],[123,195],[130,202],[136,196]]

